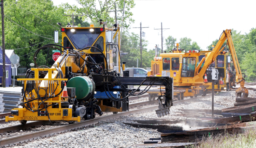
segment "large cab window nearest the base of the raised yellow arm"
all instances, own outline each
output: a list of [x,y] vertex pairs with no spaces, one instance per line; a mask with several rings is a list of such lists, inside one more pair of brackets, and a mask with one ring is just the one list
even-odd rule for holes
[[196,68],[195,57],[185,57],[182,60],[181,77],[194,77]]

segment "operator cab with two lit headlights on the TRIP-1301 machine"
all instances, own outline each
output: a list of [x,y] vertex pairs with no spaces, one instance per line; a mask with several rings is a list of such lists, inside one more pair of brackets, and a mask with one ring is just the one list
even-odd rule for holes
[[[96,48],[86,48],[82,51],[84,53],[90,54],[91,58],[95,63],[99,63],[106,66],[104,62],[104,57],[101,52],[106,56],[108,67],[113,69],[113,52],[112,47],[109,44],[112,44],[113,39],[113,31],[114,29],[105,28],[105,27],[94,27],[94,25],[90,25],[90,27],[77,27],[77,26],[68,26],[60,29],[62,33],[62,46],[69,48],[70,50],[81,50],[88,46],[94,46]],[[58,39],[58,31],[54,32],[54,42],[59,43]],[[85,56],[84,56],[85,57]],[[90,59],[91,62],[93,62]],[[79,61],[77,61],[79,62]],[[80,62],[83,62],[80,59]],[[80,63],[82,64],[82,63]],[[90,67],[89,69],[94,69],[94,67]],[[104,68],[103,68],[104,69]],[[85,70],[87,70],[85,68]],[[95,71],[95,70],[94,70]],[[86,72],[86,71],[84,71]],[[95,71],[96,72],[96,71]]]

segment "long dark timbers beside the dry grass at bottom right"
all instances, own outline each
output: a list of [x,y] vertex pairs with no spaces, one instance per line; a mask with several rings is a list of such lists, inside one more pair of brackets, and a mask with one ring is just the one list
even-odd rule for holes
[[[202,123],[218,123],[227,124],[222,126],[209,127],[204,129],[197,129],[192,131],[183,131],[177,133],[163,133],[161,134],[161,142],[165,143],[179,143],[179,142],[198,142],[199,139],[204,139],[218,135],[219,133],[244,133],[246,129],[256,128],[256,121],[252,121],[256,114],[243,115],[222,119],[214,119],[203,121]],[[231,124],[230,124],[231,123]]]

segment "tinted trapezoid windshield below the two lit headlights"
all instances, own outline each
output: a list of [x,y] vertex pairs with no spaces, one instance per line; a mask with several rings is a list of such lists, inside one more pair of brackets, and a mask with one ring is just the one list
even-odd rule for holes
[[89,29],[79,29],[75,32],[71,32],[67,29],[66,34],[69,40],[73,43],[76,49],[82,49],[87,46],[93,45],[95,40],[98,38],[101,32],[91,32]]

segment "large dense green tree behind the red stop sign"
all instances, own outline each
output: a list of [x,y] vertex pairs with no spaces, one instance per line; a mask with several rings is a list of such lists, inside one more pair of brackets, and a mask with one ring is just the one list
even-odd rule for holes
[[[60,27],[56,23],[68,22],[62,16],[64,9],[54,6],[50,0],[5,0],[4,7],[5,48],[15,49],[15,53],[20,56],[20,64],[30,68],[34,51],[42,45],[53,43],[53,32]],[[48,49],[43,49],[37,55],[38,65],[45,65],[47,51]],[[51,56],[50,51],[48,66],[54,62]]]

